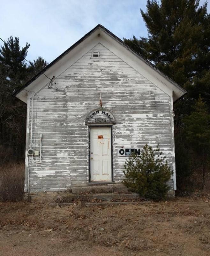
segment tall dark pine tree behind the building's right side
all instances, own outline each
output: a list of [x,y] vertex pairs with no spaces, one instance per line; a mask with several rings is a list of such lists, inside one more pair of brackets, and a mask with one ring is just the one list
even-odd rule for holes
[[[199,6],[199,0],[148,0],[146,12],[140,12],[148,37],[137,39],[133,36],[132,39],[124,39],[125,43],[188,91],[174,105],[179,187],[190,180],[200,161],[195,158],[197,151],[193,144],[186,138],[191,126],[185,124],[187,116],[194,113],[199,95],[210,112],[210,15],[207,2]],[[200,112],[202,114],[206,117],[206,113]],[[205,134],[201,133],[201,136],[204,138],[200,140],[205,140]]]

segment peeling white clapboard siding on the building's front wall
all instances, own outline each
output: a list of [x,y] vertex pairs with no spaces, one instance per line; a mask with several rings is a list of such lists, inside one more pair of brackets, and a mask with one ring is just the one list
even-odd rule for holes
[[[95,50],[100,52],[100,58],[92,58]],[[147,143],[155,147],[159,143],[170,166],[175,168],[172,95],[163,92],[101,43],[54,81],[56,85],[52,89],[44,87],[34,97],[32,147],[39,149],[41,133],[42,163],[36,164],[29,157],[31,192],[63,191],[88,182],[85,120],[91,110],[99,107],[100,92],[103,107],[112,111],[116,119],[114,181],[123,179],[126,158],[117,156],[117,148],[122,146],[141,148]],[[28,102],[28,112],[31,104]],[[27,131],[30,124],[28,118]],[[28,149],[28,139],[26,143]]]

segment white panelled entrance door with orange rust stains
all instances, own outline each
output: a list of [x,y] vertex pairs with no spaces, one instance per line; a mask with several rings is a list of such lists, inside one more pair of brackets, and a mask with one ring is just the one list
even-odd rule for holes
[[111,181],[111,128],[90,128],[91,181]]

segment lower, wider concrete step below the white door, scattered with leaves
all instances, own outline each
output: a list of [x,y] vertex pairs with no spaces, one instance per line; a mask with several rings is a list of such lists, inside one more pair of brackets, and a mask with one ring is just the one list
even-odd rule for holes
[[134,200],[138,199],[139,194],[118,194],[118,193],[98,193],[98,194],[72,194],[71,196],[66,196],[62,198],[63,202],[72,202],[75,200],[82,201],[123,201],[123,200]]

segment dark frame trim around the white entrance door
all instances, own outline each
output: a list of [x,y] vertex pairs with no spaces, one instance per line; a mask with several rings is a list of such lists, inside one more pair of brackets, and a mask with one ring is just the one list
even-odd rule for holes
[[[97,181],[91,181],[91,173],[90,173],[90,129],[91,128],[111,128],[111,177],[112,180],[109,182],[114,182],[114,175],[113,175],[113,144],[112,144],[112,125],[88,125],[88,182],[94,183]],[[103,182],[100,182],[103,183]],[[104,181],[107,183],[107,181]]]

